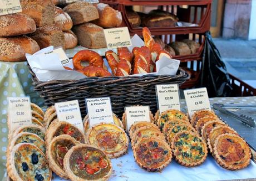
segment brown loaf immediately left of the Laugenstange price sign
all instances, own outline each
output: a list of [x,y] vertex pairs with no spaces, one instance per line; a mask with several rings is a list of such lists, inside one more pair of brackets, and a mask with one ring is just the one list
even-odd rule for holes
[[73,32],[76,34],[78,44],[87,48],[106,48],[106,40],[103,28],[93,23],[85,23],[73,27]]

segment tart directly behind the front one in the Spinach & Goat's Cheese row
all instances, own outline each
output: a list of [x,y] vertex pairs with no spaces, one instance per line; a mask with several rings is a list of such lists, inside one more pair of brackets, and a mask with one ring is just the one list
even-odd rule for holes
[[193,128],[190,124],[188,123],[179,123],[177,125],[174,125],[173,127],[170,128],[168,135],[166,136],[168,143],[171,145],[171,142],[173,142],[173,138],[175,135],[181,131],[192,131],[195,132],[195,128]]

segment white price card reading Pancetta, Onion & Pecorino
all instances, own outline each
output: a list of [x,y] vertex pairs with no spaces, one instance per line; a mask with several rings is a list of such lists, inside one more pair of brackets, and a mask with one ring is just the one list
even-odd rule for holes
[[114,123],[110,97],[85,99],[90,127],[104,122]]

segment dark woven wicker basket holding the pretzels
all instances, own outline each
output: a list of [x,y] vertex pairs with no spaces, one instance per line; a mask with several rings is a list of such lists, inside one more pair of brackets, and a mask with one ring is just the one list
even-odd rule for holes
[[149,105],[156,112],[157,84],[183,84],[190,78],[185,70],[179,69],[177,75],[145,75],[145,76],[109,76],[87,77],[81,80],[39,81],[31,68],[35,90],[45,100],[47,106],[55,102],[78,100],[82,116],[86,115],[85,98],[111,97],[112,110],[121,116],[125,106]]

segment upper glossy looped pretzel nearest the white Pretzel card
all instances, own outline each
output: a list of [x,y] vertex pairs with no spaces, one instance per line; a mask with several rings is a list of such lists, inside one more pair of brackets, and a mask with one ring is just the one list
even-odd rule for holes
[[90,66],[103,67],[101,55],[92,50],[81,50],[73,56],[73,66],[76,70],[85,68],[81,65],[81,61],[88,61]]

